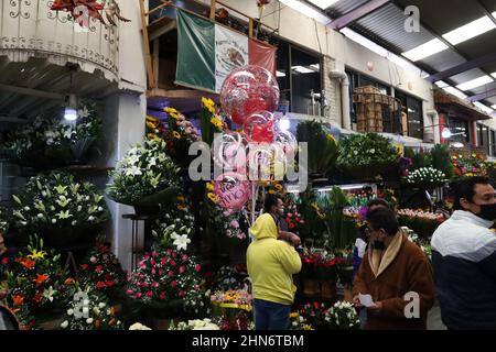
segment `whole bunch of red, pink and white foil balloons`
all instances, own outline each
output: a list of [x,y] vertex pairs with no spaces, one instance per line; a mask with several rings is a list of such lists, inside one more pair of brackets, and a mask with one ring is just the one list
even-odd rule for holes
[[259,179],[251,175],[259,175],[261,169],[265,175],[270,172],[270,177],[277,172],[283,176],[285,156],[298,151],[296,139],[278,128],[273,112],[279,105],[279,85],[260,66],[248,65],[231,72],[222,87],[220,105],[242,131],[226,132],[214,140],[214,163],[223,170],[228,169],[215,179],[214,190],[225,209],[240,210],[251,199],[252,222]]

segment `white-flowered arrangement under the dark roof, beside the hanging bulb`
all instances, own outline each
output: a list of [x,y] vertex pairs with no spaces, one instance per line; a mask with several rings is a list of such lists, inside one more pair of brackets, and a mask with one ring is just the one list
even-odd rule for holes
[[[15,131],[6,144],[19,161],[36,163],[44,160],[50,164],[74,158],[80,161],[101,130],[101,119],[96,105],[80,102],[75,123],[66,123],[60,116],[37,117],[32,124]],[[43,152],[39,155],[33,152]],[[36,161],[36,158],[40,158]],[[36,163],[37,164],[37,163]]]

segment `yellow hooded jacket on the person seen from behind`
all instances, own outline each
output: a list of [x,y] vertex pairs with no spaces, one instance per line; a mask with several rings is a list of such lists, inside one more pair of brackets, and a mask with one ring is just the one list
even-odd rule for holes
[[292,245],[278,240],[278,228],[270,213],[258,217],[252,224],[255,241],[246,254],[254,298],[291,305],[296,287],[292,275],[301,271],[301,260]]

